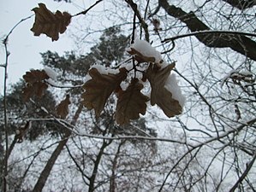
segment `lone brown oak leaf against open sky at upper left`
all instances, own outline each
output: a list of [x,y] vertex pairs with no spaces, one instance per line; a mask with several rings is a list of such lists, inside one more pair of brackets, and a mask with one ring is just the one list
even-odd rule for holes
[[44,3],[39,3],[39,8],[32,9],[35,12],[35,22],[31,31],[35,36],[45,34],[51,38],[52,41],[57,41],[59,33],[66,31],[70,23],[71,15],[68,12],[60,12],[57,10],[53,14],[48,10]]

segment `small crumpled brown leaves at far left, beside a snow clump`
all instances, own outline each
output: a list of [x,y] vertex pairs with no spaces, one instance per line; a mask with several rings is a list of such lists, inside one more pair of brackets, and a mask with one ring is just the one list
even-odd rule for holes
[[26,81],[26,87],[23,88],[22,96],[25,102],[32,96],[38,96],[41,98],[48,85],[45,84],[45,79],[49,79],[49,76],[45,71],[31,70],[23,75],[23,79]]

